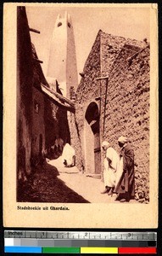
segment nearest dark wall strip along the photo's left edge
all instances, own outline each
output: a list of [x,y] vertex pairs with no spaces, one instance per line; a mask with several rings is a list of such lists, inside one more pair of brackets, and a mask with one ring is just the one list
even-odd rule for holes
[[17,173],[25,181],[31,173],[32,53],[25,7],[17,9]]

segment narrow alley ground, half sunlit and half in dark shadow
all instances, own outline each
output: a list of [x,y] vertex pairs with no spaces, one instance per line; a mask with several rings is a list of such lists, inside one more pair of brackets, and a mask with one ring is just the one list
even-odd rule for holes
[[119,203],[115,201],[116,195],[101,194],[102,190],[100,179],[87,177],[76,166],[64,167],[59,157],[36,168],[32,177],[18,189],[18,201]]

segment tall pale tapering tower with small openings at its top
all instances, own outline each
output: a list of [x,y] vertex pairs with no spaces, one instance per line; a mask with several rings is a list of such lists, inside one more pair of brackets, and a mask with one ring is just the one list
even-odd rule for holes
[[49,80],[57,79],[63,96],[70,98],[70,88],[76,90],[77,66],[75,38],[70,15],[58,15],[53,29],[53,37],[47,67]]

